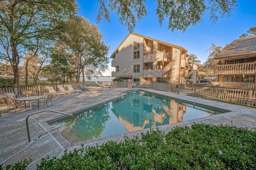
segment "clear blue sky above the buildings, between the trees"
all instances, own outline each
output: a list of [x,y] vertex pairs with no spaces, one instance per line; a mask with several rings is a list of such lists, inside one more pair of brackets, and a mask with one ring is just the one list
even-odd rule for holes
[[[78,0],[80,8],[79,16],[88,18],[90,23],[97,23],[98,0]],[[188,54],[194,53],[198,59],[206,61],[208,52],[206,52],[212,43],[224,46],[239,38],[241,34],[246,33],[250,28],[256,26],[256,0],[237,0],[238,6],[232,11],[228,18],[220,18],[216,23],[211,24],[208,14],[203,16],[203,22],[196,26],[190,26],[186,32],[168,30],[168,20],[165,20],[162,26],[159,26],[156,14],[156,2],[146,0],[148,15],[137,23],[134,33],[154,38],[163,42],[171,43],[184,47]],[[103,41],[110,46],[108,57],[128,36],[129,31],[119,21],[116,12],[110,16],[110,22],[105,19],[97,24],[98,29],[104,35]],[[109,63],[109,70],[103,75],[111,75],[114,67]]]

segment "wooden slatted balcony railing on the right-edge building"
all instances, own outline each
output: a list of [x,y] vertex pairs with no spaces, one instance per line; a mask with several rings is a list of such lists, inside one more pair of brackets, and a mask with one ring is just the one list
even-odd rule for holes
[[216,65],[215,74],[256,73],[256,62]]

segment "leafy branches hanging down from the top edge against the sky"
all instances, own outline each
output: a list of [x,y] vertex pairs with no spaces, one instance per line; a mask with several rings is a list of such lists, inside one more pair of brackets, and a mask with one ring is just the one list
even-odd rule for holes
[[[210,21],[231,15],[237,6],[236,0],[155,0],[159,24],[168,19],[168,29],[186,31],[188,26],[202,22],[202,16],[209,12]],[[147,15],[146,0],[98,0],[99,22],[102,18],[110,21],[110,12],[116,11],[119,20],[132,32],[136,23]]]

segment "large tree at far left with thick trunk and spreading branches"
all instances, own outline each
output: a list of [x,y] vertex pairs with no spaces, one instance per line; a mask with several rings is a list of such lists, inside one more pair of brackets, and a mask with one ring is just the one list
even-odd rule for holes
[[21,53],[36,51],[38,40],[54,40],[62,21],[76,12],[75,0],[1,0],[1,57],[14,72],[14,86],[19,85]]

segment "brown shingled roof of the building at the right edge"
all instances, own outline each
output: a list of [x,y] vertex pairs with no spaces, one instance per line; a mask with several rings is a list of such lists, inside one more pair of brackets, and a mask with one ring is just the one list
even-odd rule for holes
[[256,35],[239,38],[223,49],[215,59],[256,54]]

